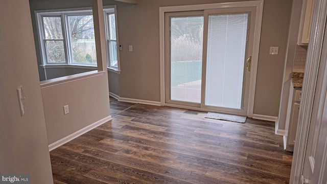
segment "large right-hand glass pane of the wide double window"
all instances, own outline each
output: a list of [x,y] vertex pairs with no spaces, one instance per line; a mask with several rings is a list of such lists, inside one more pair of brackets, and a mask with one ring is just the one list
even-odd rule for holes
[[68,16],[73,63],[97,64],[92,15]]

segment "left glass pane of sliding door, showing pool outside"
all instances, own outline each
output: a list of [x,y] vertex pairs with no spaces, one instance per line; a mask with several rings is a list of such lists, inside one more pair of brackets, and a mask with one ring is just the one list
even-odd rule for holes
[[171,18],[171,100],[201,102],[203,16]]

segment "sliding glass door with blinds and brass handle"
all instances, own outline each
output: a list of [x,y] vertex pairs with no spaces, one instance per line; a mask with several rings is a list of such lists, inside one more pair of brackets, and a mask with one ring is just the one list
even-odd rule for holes
[[253,11],[166,15],[166,103],[246,114]]

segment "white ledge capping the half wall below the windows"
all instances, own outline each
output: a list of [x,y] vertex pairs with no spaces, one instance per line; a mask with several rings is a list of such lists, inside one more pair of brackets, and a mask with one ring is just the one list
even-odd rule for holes
[[82,80],[82,79],[87,79],[90,77],[96,77],[105,74],[105,71],[90,71],[90,72],[84,72],[80,74],[75,74],[75,75],[70,75],[70,76],[65,76],[65,77],[59,77],[55,79],[49,79],[45,81],[40,82],[41,89],[45,87],[50,87],[50,86],[55,86],[67,82],[72,82],[72,81],[77,81],[77,80]]

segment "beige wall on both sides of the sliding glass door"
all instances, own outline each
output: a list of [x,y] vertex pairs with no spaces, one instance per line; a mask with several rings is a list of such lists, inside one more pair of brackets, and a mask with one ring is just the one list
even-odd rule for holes
[[[232,1],[220,0],[140,0],[139,4],[118,9],[122,73],[120,96],[160,101],[159,7]],[[278,116],[281,96],[291,0],[265,0],[254,113]],[[128,51],[133,45],[133,52]],[[269,55],[269,47],[279,47]]]

